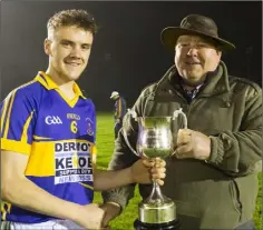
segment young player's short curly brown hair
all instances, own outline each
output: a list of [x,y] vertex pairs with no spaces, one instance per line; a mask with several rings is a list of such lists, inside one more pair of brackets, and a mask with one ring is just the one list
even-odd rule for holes
[[56,30],[59,27],[76,26],[84,30],[90,31],[92,36],[98,31],[98,26],[94,17],[86,10],[62,10],[55,13],[47,23],[47,29]]

